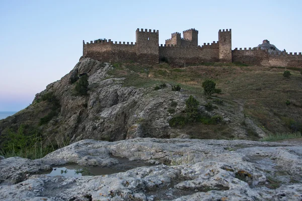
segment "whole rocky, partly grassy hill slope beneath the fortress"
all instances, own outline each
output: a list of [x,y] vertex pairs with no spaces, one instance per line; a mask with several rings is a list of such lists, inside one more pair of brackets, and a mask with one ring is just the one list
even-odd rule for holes
[[[299,72],[292,71],[292,77],[285,79],[278,68],[210,65],[173,69],[165,63],[141,66],[83,59],[38,93],[29,107],[1,120],[0,135],[22,126],[25,135],[41,137],[45,146],[56,149],[83,139],[258,140],[300,129]],[[206,78],[215,80],[222,93],[205,96],[201,83]],[[159,87],[163,83],[166,86]],[[178,83],[181,90],[172,91]],[[190,95],[199,101],[200,114],[218,121],[170,126],[173,117],[184,114]]]

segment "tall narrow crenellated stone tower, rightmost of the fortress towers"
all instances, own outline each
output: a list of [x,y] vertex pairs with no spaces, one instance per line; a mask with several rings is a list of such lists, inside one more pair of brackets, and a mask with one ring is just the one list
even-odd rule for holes
[[219,61],[232,62],[232,30],[224,29],[218,32]]

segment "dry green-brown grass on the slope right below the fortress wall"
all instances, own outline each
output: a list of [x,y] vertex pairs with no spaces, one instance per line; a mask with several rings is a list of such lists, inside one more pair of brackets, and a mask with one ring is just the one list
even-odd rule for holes
[[[212,79],[216,87],[222,89],[221,94],[214,94],[212,97],[212,103],[219,105],[217,110],[235,114],[239,110],[238,103],[241,102],[245,117],[252,119],[265,133],[288,133],[294,131],[291,128],[292,122],[302,122],[302,105],[299,98],[302,97],[301,75],[294,70],[290,70],[292,76],[286,79],[282,75],[282,68],[246,66],[242,63],[208,62],[186,68],[171,68],[167,63],[155,66],[119,63],[114,65],[111,75],[125,77],[124,86],[154,88],[161,83],[172,86],[180,84],[182,93],[193,94],[201,100],[204,98],[202,82]],[[287,100],[290,105],[286,105]],[[202,103],[207,102],[209,101]],[[291,124],[288,123],[286,114],[290,114]],[[242,122],[240,117],[234,118],[234,121]],[[179,117],[178,120],[182,125],[182,118]],[[200,135],[197,133],[192,137],[208,138],[208,134],[219,138],[213,133],[215,127],[211,125],[207,131],[197,131]],[[218,131],[222,139],[233,138],[228,132],[232,132],[232,128]],[[258,137],[253,134],[250,139],[257,140]]]

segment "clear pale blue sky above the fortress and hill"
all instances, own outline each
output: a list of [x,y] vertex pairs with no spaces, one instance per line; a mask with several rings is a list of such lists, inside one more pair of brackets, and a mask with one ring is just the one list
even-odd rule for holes
[[35,94],[67,74],[83,40],[135,42],[137,28],[171,33],[195,28],[199,45],[232,29],[232,49],[264,39],[302,51],[302,1],[18,1],[0,0],[0,111],[26,108]]

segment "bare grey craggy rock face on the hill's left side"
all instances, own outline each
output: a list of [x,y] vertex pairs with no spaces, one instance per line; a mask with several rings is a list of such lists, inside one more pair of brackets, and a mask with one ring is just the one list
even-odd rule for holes
[[[101,63],[90,58],[82,59],[70,73],[36,94],[29,107],[1,120],[0,136],[9,128],[17,131],[18,127],[24,124],[25,130],[30,132],[37,130],[43,136],[44,144],[51,146],[54,144],[58,147],[83,139],[117,141],[136,137],[190,137],[189,132],[193,131],[187,130],[186,133],[169,126],[169,120],[184,111],[190,91],[172,91],[169,83],[166,88],[160,90],[154,90],[154,85],[125,86],[125,79],[128,78],[110,75],[113,70],[116,68],[109,63]],[[131,74],[132,71],[128,73]],[[87,95],[79,95],[74,91],[77,84],[74,81],[83,75],[88,76]],[[44,100],[43,96],[51,96],[50,102]],[[54,108],[55,99],[57,102]],[[220,116],[223,123],[227,124],[225,126],[227,129],[223,130],[229,130],[230,135],[226,138],[247,137],[247,131],[238,122],[242,121],[244,115],[235,108],[236,105],[225,103],[228,110],[208,112],[202,106],[208,102],[207,98],[199,97],[199,101],[201,112],[208,116]],[[176,106],[173,112],[169,112],[168,109],[171,109],[173,102]],[[232,110],[229,110],[230,108]],[[48,118],[50,114],[54,114],[50,121],[41,123],[41,119]],[[251,120],[247,122],[251,122],[251,128],[254,130],[255,124]],[[256,128],[255,132],[259,136],[264,136],[261,129]],[[205,137],[211,138],[210,135]]]

